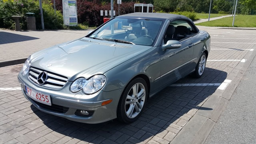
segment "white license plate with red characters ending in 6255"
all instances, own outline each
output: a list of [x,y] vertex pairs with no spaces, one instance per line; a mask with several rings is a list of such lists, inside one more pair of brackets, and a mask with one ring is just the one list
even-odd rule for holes
[[32,90],[31,88],[29,88],[27,86],[25,86],[25,88],[26,88],[26,93],[33,100],[35,100],[37,102],[40,102],[40,103],[43,103],[43,104],[47,104],[49,106],[52,105],[51,98],[50,98],[49,95],[43,94],[41,92],[37,92],[36,90]]

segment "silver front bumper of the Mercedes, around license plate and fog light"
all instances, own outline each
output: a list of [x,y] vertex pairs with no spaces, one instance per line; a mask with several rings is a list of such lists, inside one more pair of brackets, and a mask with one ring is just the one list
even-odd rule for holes
[[[101,122],[106,122],[116,118],[116,111],[120,96],[122,94],[122,89],[113,90],[110,92],[105,92],[100,90],[93,96],[87,99],[76,98],[76,93],[66,93],[65,90],[47,90],[44,88],[40,88],[40,86],[36,86],[36,84],[32,83],[26,76],[20,78],[22,76],[18,76],[18,80],[20,86],[22,88],[22,93],[27,100],[29,100],[36,108],[39,110],[46,112],[48,114],[52,114],[55,116],[60,116],[66,118],[68,120],[83,122],[88,124],[97,124]],[[45,94],[49,94],[52,101],[52,106],[47,106],[45,104],[41,104],[36,102],[32,98],[30,98],[26,94],[25,85],[36,90],[38,92],[42,92]],[[84,97],[84,96],[82,96]],[[102,102],[106,100],[112,99],[110,104],[101,106]],[[55,108],[55,109],[54,109]],[[78,113],[80,110],[86,110],[90,114],[88,116],[80,116]]]

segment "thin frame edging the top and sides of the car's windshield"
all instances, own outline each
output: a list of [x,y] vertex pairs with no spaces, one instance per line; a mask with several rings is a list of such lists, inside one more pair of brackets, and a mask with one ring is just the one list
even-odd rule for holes
[[[156,20],[156,21],[161,21],[162,24],[160,26],[160,29],[158,31],[158,34],[156,35],[156,39],[154,40],[154,42],[151,45],[148,46],[155,46],[156,42],[158,41],[160,32],[162,31],[162,28],[164,26],[164,22],[166,19],[164,18],[149,18],[149,17],[138,17],[138,16],[116,16],[115,18],[134,18],[134,19],[144,19],[144,20]],[[100,25],[98,28],[96,28],[95,30],[93,30],[92,32],[90,32],[90,34],[86,35],[86,38],[90,38],[90,36],[92,34],[94,34],[94,32],[96,32],[97,30],[99,30],[100,28],[102,28],[102,26],[104,26],[105,24],[107,24],[108,22],[110,22],[111,20],[114,20],[115,18],[112,18],[110,20],[108,20],[107,22],[103,23],[102,25]],[[140,46],[147,46],[147,45],[143,45],[143,44],[135,44],[135,45],[140,45]]]

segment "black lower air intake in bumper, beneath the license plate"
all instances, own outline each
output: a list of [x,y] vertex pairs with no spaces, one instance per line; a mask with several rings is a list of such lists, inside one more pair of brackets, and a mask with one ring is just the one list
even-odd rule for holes
[[35,102],[41,108],[44,108],[44,109],[47,109],[47,110],[51,110],[51,111],[54,111],[54,112],[58,112],[58,113],[64,114],[64,113],[66,113],[68,111],[68,107],[59,106],[59,105],[56,105],[56,104],[52,104],[52,106],[48,106],[46,104],[42,104],[40,102],[36,102],[35,100],[32,100],[32,101]]

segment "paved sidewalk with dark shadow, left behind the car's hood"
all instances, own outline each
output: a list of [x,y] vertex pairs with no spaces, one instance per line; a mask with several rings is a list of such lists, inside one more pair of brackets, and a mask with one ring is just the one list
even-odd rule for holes
[[86,36],[89,30],[12,31],[0,30],[0,67],[23,63],[28,56],[70,40]]

